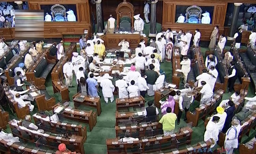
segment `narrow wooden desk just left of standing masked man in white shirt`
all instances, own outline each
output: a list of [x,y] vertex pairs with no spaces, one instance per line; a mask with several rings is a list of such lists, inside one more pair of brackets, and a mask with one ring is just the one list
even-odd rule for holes
[[52,80],[59,80],[63,77],[63,65],[68,61],[68,57],[61,57],[61,59],[54,66],[53,71],[51,73]]

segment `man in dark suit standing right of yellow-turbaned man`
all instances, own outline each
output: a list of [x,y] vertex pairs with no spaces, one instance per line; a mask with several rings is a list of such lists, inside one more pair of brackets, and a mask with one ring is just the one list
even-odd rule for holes
[[232,118],[234,116],[234,102],[232,100],[228,101],[228,107],[226,108],[225,112],[227,113],[227,117],[225,120],[224,127],[222,129],[223,133],[226,133],[227,130],[230,128],[230,123],[232,121]]

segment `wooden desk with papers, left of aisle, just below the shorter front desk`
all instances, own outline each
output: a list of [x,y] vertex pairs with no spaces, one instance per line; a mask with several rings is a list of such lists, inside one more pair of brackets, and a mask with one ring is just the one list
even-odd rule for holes
[[[58,107],[64,107],[64,106],[62,106],[60,103],[54,105],[53,112]],[[62,113],[60,113],[58,115],[61,115],[65,118],[68,118],[68,119],[71,119],[74,121],[88,123],[90,131],[93,129],[93,127],[96,125],[96,122],[97,122],[96,113],[93,112],[92,110],[81,111],[81,110],[71,109],[71,108],[68,108],[68,106],[66,106],[66,107],[64,107],[64,110],[62,111]]]

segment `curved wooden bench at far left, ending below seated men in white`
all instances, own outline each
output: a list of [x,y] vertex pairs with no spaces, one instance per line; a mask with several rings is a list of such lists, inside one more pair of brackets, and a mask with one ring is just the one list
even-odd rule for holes
[[12,93],[9,91],[9,88],[7,87],[7,84],[4,83],[3,86],[4,86],[4,92],[5,92],[5,95],[6,95],[6,97],[7,97],[6,99],[7,99],[7,101],[8,101],[8,104],[11,105],[11,107],[12,107],[12,108],[10,108],[10,109],[12,109],[13,112],[16,112],[17,117],[18,117],[19,119],[24,119],[25,116],[29,114],[29,106],[26,105],[26,106],[23,107],[23,108],[19,108],[19,107],[18,107],[18,102],[16,102],[16,101],[14,100],[14,96],[13,96]]

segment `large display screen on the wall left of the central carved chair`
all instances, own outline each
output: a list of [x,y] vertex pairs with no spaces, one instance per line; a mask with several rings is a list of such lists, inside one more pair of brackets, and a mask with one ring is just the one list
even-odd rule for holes
[[41,5],[41,9],[46,22],[77,21],[75,4]]

